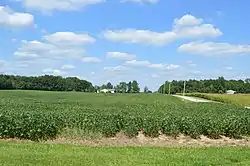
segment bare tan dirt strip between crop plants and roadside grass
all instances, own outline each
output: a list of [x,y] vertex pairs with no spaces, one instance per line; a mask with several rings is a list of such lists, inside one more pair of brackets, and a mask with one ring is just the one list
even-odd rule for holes
[[119,133],[113,138],[101,138],[96,140],[88,139],[67,139],[58,138],[47,141],[50,144],[74,144],[82,146],[155,146],[155,147],[209,147],[209,146],[247,146],[250,148],[250,138],[230,139],[221,137],[220,139],[209,139],[201,136],[200,139],[192,139],[188,136],[180,135],[177,138],[160,135],[158,138],[148,138],[142,133],[136,138],[127,138],[123,133]]

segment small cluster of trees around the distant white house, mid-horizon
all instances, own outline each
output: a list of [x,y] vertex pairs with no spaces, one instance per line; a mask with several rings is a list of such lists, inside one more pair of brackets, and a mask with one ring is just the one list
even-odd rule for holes
[[95,86],[96,90],[114,89],[116,93],[139,93],[140,88],[136,80],[127,82],[120,82],[118,85],[112,85],[110,82],[101,86]]

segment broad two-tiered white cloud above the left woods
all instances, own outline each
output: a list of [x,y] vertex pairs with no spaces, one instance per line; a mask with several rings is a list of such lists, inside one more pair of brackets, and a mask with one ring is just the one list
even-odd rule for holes
[[95,39],[88,34],[56,32],[45,35],[42,41],[23,40],[14,56],[19,60],[81,58],[85,54],[82,44],[94,42]]

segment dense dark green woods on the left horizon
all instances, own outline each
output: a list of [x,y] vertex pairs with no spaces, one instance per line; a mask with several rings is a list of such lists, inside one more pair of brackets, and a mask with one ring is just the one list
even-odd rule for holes
[[0,89],[94,92],[91,82],[77,77],[0,75]]

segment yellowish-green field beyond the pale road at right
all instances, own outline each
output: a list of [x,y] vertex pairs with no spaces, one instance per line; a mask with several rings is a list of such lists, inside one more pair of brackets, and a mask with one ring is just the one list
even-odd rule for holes
[[194,93],[189,94],[190,96],[201,97],[209,100],[237,104],[242,106],[250,107],[250,94],[205,94],[205,93]]

